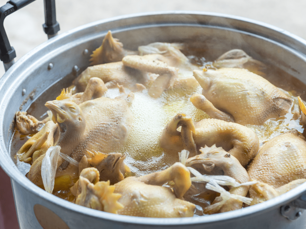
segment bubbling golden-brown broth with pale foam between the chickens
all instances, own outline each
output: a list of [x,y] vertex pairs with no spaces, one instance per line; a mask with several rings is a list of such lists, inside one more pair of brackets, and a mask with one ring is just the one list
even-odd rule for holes
[[[186,49],[183,53],[199,69],[205,64],[209,64],[208,61],[213,61],[210,56],[205,56],[205,53],[199,53],[199,50],[196,49]],[[69,77],[71,78],[71,76]],[[297,117],[297,113],[299,113],[297,96],[301,96],[305,100],[305,84],[273,66],[268,67],[265,78],[275,86],[282,88],[284,93],[293,100],[293,104],[289,110],[290,112],[285,116],[269,119],[260,126],[247,125],[257,134],[260,145],[291,129],[303,132],[302,125]],[[60,90],[58,88],[67,86],[69,85],[67,85],[66,80],[63,85],[54,86],[56,90],[54,87],[48,90],[58,91],[59,94]],[[201,94],[201,91],[202,88],[199,85],[194,88],[182,87],[176,89],[176,91],[170,89],[164,91],[157,99],[150,97],[147,90],[134,92],[135,97],[130,107],[134,117],[132,129],[126,145],[119,151],[119,153],[126,155],[125,163],[131,169],[131,174],[128,175],[141,176],[163,170],[179,160],[177,152],[164,150],[159,146],[159,137],[166,124],[179,112],[191,116],[194,122],[209,118],[205,112],[196,109],[189,100],[193,94]],[[129,90],[126,89],[126,92],[128,93]],[[109,89],[104,96],[115,98],[119,95],[119,89],[113,88]],[[53,97],[50,98],[48,97],[49,94],[46,93],[45,96],[42,96],[43,98],[36,100],[31,105],[28,109],[28,114],[35,117],[40,114],[40,119],[45,117],[46,107],[44,103],[48,100],[54,100],[57,95],[52,95]],[[19,161],[16,153],[31,136],[21,135],[18,131],[15,131],[10,145],[12,159],[24,175],[29,171],[30,164]],[[67,192],[67,190],[62,190],[54,194],[63,199],[68,199]],[[194,203],[197,206],[197,212],[201,212],[202,204],[208,204],[199,204],[196,203],[196,200]]]

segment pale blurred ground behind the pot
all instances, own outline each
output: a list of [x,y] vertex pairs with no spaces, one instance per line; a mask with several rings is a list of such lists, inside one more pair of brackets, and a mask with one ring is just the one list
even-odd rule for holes
[[[1,6],[7,0],[0,0]],[[305,0],[57,0],[57,21],[60,33],[80,25],[100,19],[124,14],[192,10],[232,14],[269,23],[306,39],[306,1]],[[16,50],[18,60],[21,56],[46,41],[43,32],[43,0],[35,1],[4,20],[4,27],[11,46]],[[0,76],[4,67],[0,65]]]

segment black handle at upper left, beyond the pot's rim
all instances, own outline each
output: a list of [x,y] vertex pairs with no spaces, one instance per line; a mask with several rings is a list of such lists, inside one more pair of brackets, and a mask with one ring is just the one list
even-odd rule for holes
[[[5,71],[14,64],[16,52],[8,41],[8,36],[3,26],[4,18],[34,1],[35,0],[10,0],[0,8],[0,60],[3,61]],[[43,24],[43,28],[48,35],[48,39],[50,39],[60,30],[60,25],[56,21],[55,0],[44,0],[44,6],[46,23]]]

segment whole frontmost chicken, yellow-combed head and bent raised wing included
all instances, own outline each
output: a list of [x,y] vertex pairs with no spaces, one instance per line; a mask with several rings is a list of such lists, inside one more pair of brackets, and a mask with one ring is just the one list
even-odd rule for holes
[[[76,204],[128,216],[166,218],[194,214],[195,205],[179,199],[191,185],[190,172],[183,164],[175,163],[166,170],[142,177],[127,177],[115,185],[104,181],[91,184],[84,177],[92,177],[93,168],[84,170],[78,184],[71,188],[77,195]],[[174,182],[174,191],[161,186],[169,181]],[[99,185],[103,188],[98,189]],[[110,197],[103,190],[110,190]],[[109,206],[114,206],[112,211],[108,210]]]

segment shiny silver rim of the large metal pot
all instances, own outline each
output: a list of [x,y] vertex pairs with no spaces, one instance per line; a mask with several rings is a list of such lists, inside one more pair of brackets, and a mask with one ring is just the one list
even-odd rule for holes
[[[14,71],[19,69],[19,67],[22,67],[25,60],[28,60],[30,57],[33,57],[37,55],[37,52],[41,49],[47,49],[48,46],[51,44],[56,44],[59,40],[67,37],[73,38],[74,34],[78,34],[82,32],[83,30],[89,28],[89,27],[97,27],[103,23],[109,23],[114,21],[121,21],[125,19],[130,18],[139,18],[139,17],[146,17],[146,16],[152,16],[152,15],[163,15],[163,14],[169,14],[169,15],[207,15],[207,16],[213,16],[213,17],[220,17],[225,19],[234,19],[237,21],[243,21],[244,23],[250,23],[253,25],[256,25],[256,27],[263,28],[264,30],[271,30],[274,31],[277,34],[281,34],[281,36],[289,37],[293,39],[294,41],[297,41],[298,46],[303,46],[306,50],[306,41],[290,32],[287,32],[283,29],[280,29],[278,27],[269,25],[267,23],[259,22],[253,19],[248,19],[244,17],[238,17],[228,14],[221,14],[221,13],[211,13],[211,12],[199,12],[199,11],[160,11],[160,12],[149,12],[149,13],[135,13],[135,14],[128,14],[108,19],[102,19],[96,22],[88,23],[86,25],[79,26],[75,29],[69,30],[67,32],[64,32],[62,34],[59,34],[52,39],[47,40],[46,42],[40,44],[35,49],[31,50],[29,53],[21,57],[16,63],[0,78],[0,97],[4,97],[7,91],[4,93],[3,91],[6,90],[9,85],[8,78],[10,75],[14,74]],[[255,33],[257,35],[262,35],[260,33]],[[271,39],[269,37],[269,39]],[[277,40],[278,42],[282,43],[280,40]],[[292,48],[292,47],[291,47]],[[301,52],[300,50],[296,49],[297,51]],[[306,52],[305,52],[306,53]],[[305,53],[301,52],[301,54],[305,55]],[[12,84],[12,83],[10,83]],[[7,104],[5,101],[0,101],[0,110],[4,110],[3,108],[7,107]],[[0,133],[3,133],[3,116],[0,114]],[[4,149],[2,151],[1,149]],[[235,211],[230,212],[224,212],[219,213],[215,215],[210,216],[203,216],[203,217],[191,217],[191,218],[145,218],[145,217],[132,217],[132,216],[123,216],[123,215],[116,215],[112,213],[107,213],[103,211],[96,211],[93,209],[85,208],[83,206],[77,206],[69,201],[62,200],[61,198],[58,198],[50,193],[47,193],[46,191],[38,188],[36,185],[34,185],[30,180],[28,180],[24,175],[21,174],[17,166],[13,163],[13,161],[10,158],[10,153],[8,152],[5,141],[3,136],[0,136],[0,155],[2,159],[0,160],[0,166],[3,168],[3,170],[13,179],[14,181],[18,182],[20,185],[24,187],[24,189],[28,190],[31,193],[34,193],[37,196],[40,196],[44,198],[47,201],[50,201],[53,204],[56,204],[58,206],[61,206],[62,208],[68,209],[70,211],[78,212],[80,214],[96,217],[100,219],[105,219],[108,221],[118,221],[122,223],[129,223],[129,224],[137,224],[137,225],[159,225],[159,226],[168,226],[168,225],[196,225],[196,224],[203,224],[203,223],[214,223],[214,222],[221,222],[221,221],[227,221],[227,220],[236,220],[240,217],[248,217],[248,216],[254,216],[258,214],[263,214],[267,211],[270,211],[271,209],[275,209],[277,207],[280,207],[292,200],[297,199],[300,195],[302,195],[306,191],[306,183],[299,185],[297,188],[288,191],[286,194],[280,195],[278,197],[273,198],[272,200],[267,200],[263,203],[250,206],[244,209],[239,209]]]

